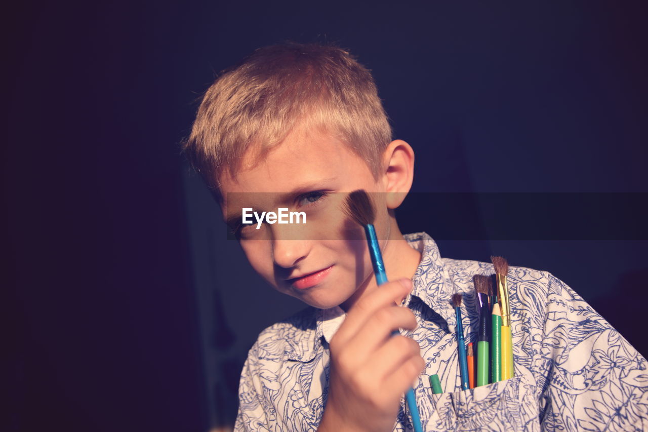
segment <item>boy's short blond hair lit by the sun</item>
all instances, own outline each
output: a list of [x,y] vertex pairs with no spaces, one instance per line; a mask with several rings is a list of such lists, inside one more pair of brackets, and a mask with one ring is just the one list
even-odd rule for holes
[[235,177],[249,149],[258,161],[297,127],[347,143],[376,178],[391,141],[369,70],[341,48],[288,43],[257,49],[216,79],[183,150],[218,197],[224,170]]

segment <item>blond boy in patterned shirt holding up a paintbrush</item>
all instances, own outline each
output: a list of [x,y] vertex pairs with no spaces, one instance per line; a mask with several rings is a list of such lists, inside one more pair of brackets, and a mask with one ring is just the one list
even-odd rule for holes
[[[311,306],[249,351],[236,430],[411,430],[402,395],[412,384],[428,431],[648,429],[645,359],[560,280],[522,267],[508,272],[515,377],[460,390],[450,300],[464,294],[475,333],[472,276],[492,265],[443,259],[428,235],[400,233],[394,209],[414,153],[391,140],[371,74],[347,52],[257,50],[207,90],[185,150],[252,267]],[[340,211],[356,189],[375,197],[384,285],[362,228]],[[241,223],[243,208],[282,207],[308,223]]]

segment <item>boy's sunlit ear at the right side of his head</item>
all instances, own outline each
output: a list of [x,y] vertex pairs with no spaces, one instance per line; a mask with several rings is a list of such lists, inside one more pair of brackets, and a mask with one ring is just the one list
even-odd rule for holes
[[385,149],[383,166],[387,207],[402,204],[414,178],[414,150],[402,139],[395,139]]

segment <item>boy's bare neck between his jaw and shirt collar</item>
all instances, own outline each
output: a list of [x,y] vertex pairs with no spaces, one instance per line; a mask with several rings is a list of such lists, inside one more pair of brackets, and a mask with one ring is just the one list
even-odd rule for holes
[[[382,249],[382,259],[385,263],[387,278],[390,281],[398,279],[411,279],[421,263],[421,252],[412,248],[403,238],[396,219],[391,218],[391,230],[387,244]],[[365,282],[356,289],[355,293],[343,302],[340,307],[344,311],[349,309],[360,300],[360,298],[376,289],[376,278],[371,275]],[[395,298],[394,302],[399,306],[404,298]]]

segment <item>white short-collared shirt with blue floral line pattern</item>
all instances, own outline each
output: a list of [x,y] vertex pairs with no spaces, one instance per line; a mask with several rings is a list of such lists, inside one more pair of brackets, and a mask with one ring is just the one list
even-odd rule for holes
[[[461,390],[452,294],[463,293],[467,341],[476,341],[472,276],[491,263],[441,258],[424,233],[404,236],[422,258],[405,304],[418,328],[425,370],[415,386],[426,431],[648,430],[648,363],[565,283],[548,272],[509,267],[514,378]],[[340,307],[307,308],[262,331],[240,379],[236,431],[314,431],[325,407],[329,341]],[[437,374],[443,394],[432,394]],[[394,431],[410,431],[401,401]]]

